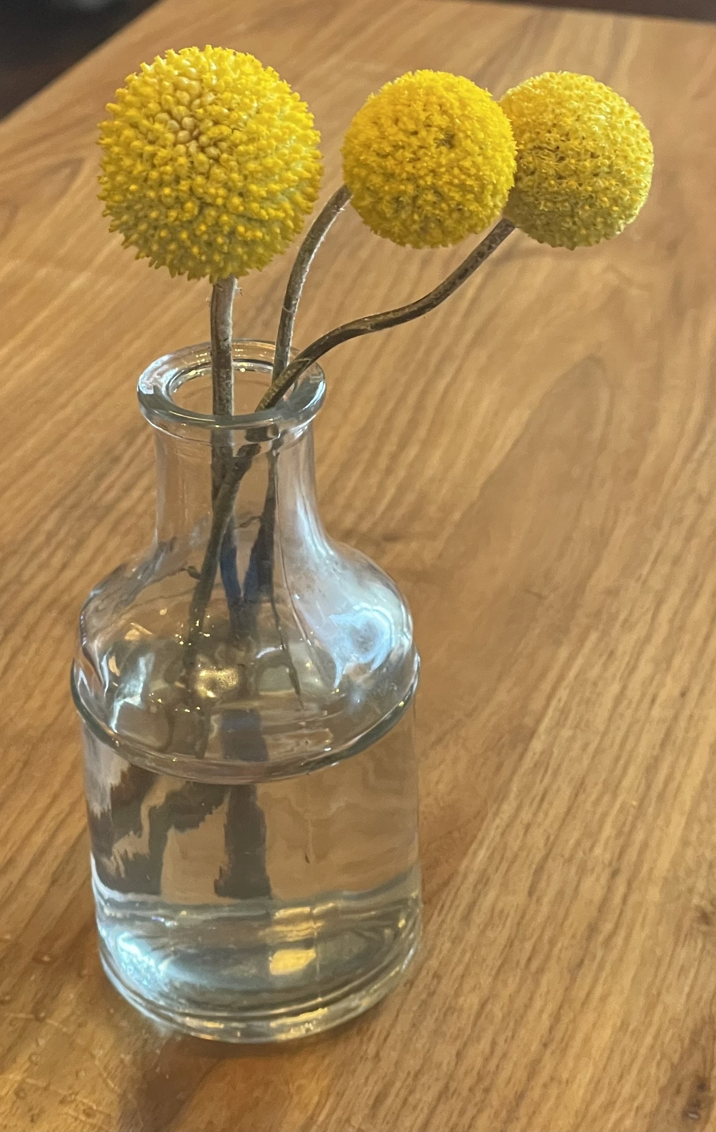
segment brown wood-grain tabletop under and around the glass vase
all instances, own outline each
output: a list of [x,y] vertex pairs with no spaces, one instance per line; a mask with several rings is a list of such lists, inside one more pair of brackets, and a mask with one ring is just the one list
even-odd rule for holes
[[[432,67],[495,94],[593,72],[641,111],[640,220],[573,254],[516,235],[429,320],[328,359],[329,530],[412,601],[422,960],[320,1039],[161,1034],[101,974],[68,692],[90,585],[146,543],[154,357],[207,288],[147,271],[95,200],[95,122],[169,46],[273,63],[316,111],[326,192],[368,93]],[[164,0],[0,127],[0,1126],[10,1132],[716,1129],[716,29],[454,0]],[[346,215],[300,342],[434,284]],[[245,281],[274,332],[287,260]]]

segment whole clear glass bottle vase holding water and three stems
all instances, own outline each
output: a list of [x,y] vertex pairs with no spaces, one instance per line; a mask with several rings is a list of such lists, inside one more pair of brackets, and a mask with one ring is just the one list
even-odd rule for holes
[[320,369],[250,412],[271,360],[234,343],[231,418],[206,345],[141,376],[156,534],[87,598],[72,667],[104,968],[236,1041],[360,1013],[420,936],[409,612],[321,525]]

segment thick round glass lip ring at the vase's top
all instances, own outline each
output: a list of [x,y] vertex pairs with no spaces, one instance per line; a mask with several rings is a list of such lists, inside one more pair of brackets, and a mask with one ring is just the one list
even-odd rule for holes
[[[255,370],[265,370],[270,375],[275,348],[274,342],[234,338],[232,342],[234,365],[249,362]],[[295,354],[296,351],[292,350],[292,357]],[[152,424],[171,432],[175,432],[178,427],[182,430],[202,429],[207,432],[251,429],[255,432],[259,430],[268,439],[307,424],[316,417],[326,396],[324,371],[314,362],[277,405],[260,413],[215,417],[212,413],[200,413],[195,409],[179,405],[174,394],[187,381],[199,374],[210,371],[210,368],[212,346],[208,342],[181,346],[157,358],[147,366],[137,385],[143,414]],[[260,440],[262,437],[257,435],[256,439]]]

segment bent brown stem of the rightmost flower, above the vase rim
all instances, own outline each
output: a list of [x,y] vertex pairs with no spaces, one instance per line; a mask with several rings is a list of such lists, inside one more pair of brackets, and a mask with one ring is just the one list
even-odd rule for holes
[[328,334],[324,334],[320,338],[317,338],[297,358],[294,358],[291,365],[271,384],[270,388],[261,397],[256,411],[261,412],[264,409],[271,409],[309,366],[312,366],[313,362],[322,358],[334,346],[340,345],[342,342],[361,337],[363,334],[374,334],[376,331],[387,331],[389,327],[399,326],[402,323],[409,323],[412,319],[420,318],[421,315],[426,315],[428,311],[440,306],[441,302],[445,302],[454,291],[457,291],[484,264],[485,259],[514,231],[515,225],[509,220],[498,221],[484,240],[471,251],[467,259],[464,259],[459,267],[456,267],[442,283],[439,283],[434,290],[423,295],[422,299],[416,299],[415,302],[409,302],[405,307],[396,307],[394,310],[383,310],[378,315],[368,315],[365,318],[356,318],[352,323],[344,323],[343,326],[337,326],[334,331],[329,331]]

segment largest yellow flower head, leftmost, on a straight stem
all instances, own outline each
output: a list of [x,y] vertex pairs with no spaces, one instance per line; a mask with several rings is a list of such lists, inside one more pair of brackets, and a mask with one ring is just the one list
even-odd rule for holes
[[303,228],[322,173],[305,103],[226,48],[143,63],[107,106],[100,199],[137,258],[172,275],[261,269]]

